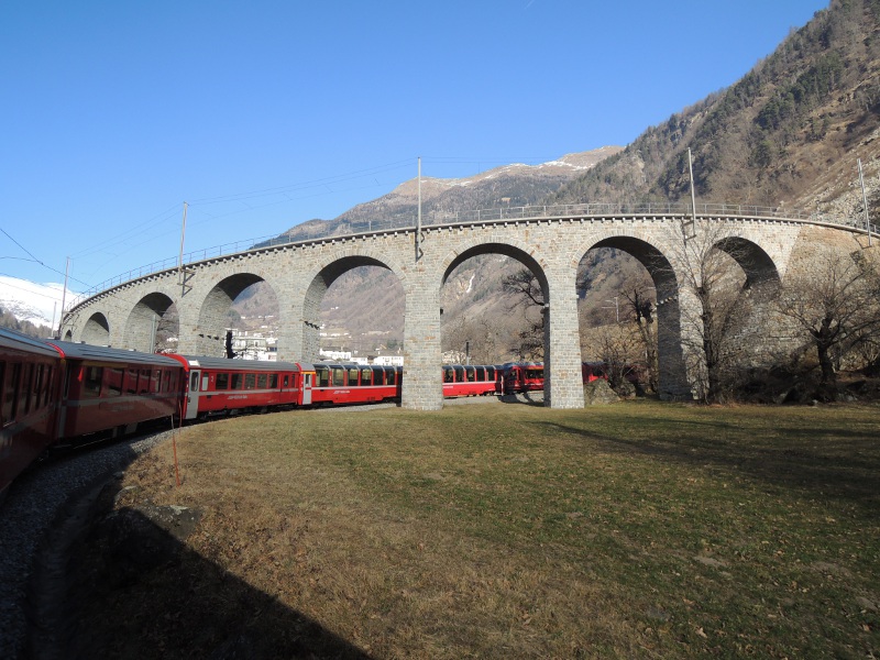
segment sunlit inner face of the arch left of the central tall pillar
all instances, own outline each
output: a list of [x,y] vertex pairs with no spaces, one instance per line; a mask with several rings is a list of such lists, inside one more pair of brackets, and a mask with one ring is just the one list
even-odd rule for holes
[[407,295],[406,277],[400,267],[386,255],[372,251],[341,251],[328,255],[318,266],[317,272],[307,279],[302,298],[302,343],[299,356],[301,360],[318,360],[320,354],[320,317],[321,301],[324,294],[342,275],[362,266],[375,266],[393,273]]

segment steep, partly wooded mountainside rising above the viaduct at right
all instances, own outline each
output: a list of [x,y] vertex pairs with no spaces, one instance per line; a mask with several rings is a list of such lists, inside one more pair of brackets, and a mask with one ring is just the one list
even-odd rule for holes
[[855,217],[858,158],[868,186],[880,183],[879,127],[880,0],[833,0],[738,82],[649,128],[549,201],[686,199],[691,148],[697,201]]

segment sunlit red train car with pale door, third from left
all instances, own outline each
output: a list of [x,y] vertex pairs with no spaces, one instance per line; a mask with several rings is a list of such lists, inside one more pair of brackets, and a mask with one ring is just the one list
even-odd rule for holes
[[315,370],[310,364],[202,355],[169,358],[186,373],[183,419],[312,403]]

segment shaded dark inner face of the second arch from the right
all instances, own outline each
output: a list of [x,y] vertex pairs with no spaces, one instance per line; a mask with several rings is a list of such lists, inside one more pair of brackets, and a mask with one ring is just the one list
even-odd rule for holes
[[652,241],[631,234],[601,239],[584,250],[583,254],[597,248],[626,252],[648,271],[657,293],[659,394],[662,398],[690,398],[691,386],[682,350],[679,283],[669,257]]

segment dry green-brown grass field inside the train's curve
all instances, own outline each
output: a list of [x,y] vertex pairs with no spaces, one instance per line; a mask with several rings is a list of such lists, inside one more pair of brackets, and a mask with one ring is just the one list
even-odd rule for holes
[[198,509],[185,548],[89,541],[116,657],[880,654],[878,406],[294,411],[177,451],[117,507]]

